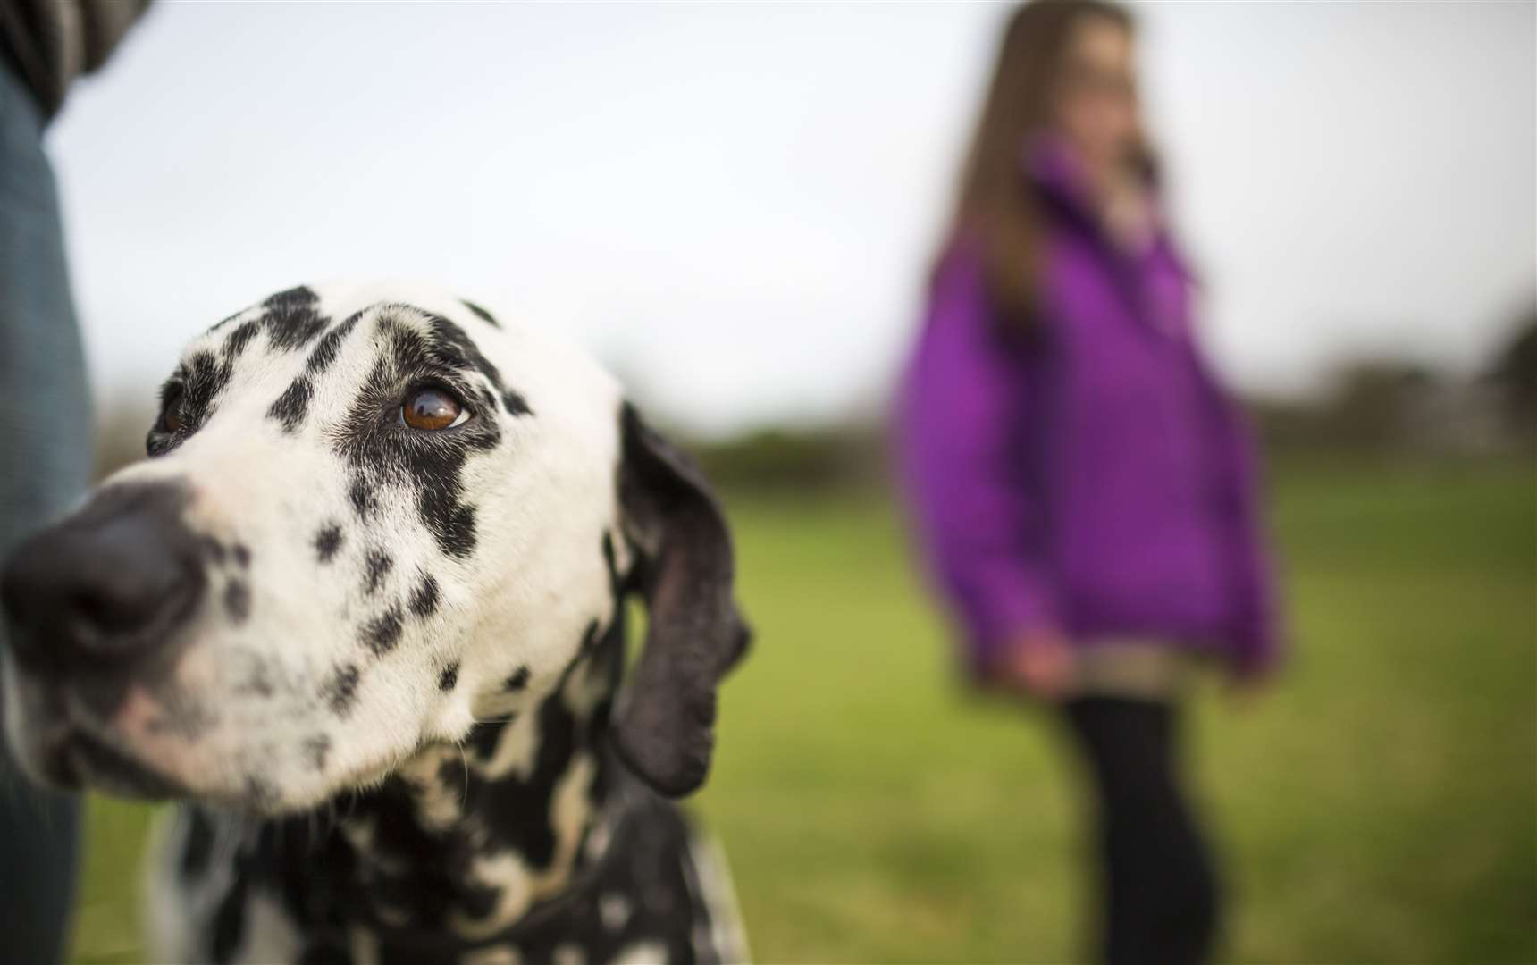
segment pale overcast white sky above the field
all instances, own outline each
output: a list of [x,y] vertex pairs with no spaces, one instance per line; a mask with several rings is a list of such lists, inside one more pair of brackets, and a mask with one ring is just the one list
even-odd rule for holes
[[[1468,369],[1537,298],[1531,3],[1139,11],[1231,381]],[[98,392],[272,290],[407,275],[695,430],[875,410],[1005,14],[157,3],[49,135]]]

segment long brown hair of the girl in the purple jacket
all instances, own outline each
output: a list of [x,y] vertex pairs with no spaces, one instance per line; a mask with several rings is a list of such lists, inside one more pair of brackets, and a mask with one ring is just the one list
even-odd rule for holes
[[1068,38],[1090,17],[1134,28],[1131,14],[1113,0],[1033,0],[1014,11],[962,167],[950,234],[968,234],[981,244],[988,293],[1001,321],[1028,324],[1034,317],[1041,203],[1021,172],[1021,152],[1030,134],[1050,126]]

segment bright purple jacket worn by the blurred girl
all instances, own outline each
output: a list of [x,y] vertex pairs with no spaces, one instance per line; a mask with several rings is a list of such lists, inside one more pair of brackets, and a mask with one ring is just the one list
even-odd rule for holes
[[1037,335],[1001,338],[976,247],[936,272],[901,396],[904,475],[931,570],[985,673],[1051,627],[1154,638],[1239,673],[1276,658],[1274,589],[1247,429],[1202,361],[1190,280],[1159,230],[1111,246],[1061,155]]

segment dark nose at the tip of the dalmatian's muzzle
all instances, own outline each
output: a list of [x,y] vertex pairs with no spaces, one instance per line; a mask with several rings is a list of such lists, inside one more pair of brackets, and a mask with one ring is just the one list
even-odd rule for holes
[[168,484],[105,490],[23,542],[0,575],[15,661],[69,672],[164,642],[203,593],[198,542]]

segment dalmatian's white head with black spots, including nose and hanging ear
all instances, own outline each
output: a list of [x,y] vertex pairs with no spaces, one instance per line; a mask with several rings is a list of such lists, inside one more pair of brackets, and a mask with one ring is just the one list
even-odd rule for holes
[[438,293],[298,287],[192,343],[148,449],[5,569],[35,776],[307,807],[538,699],[635,589],[613,739],[664,793],[704,779],[745,642],[725,522],[579,352]]

